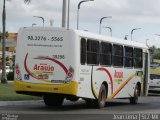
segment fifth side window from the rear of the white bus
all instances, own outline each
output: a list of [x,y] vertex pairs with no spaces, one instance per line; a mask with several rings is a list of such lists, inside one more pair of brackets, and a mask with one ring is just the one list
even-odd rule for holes
[[133,67],[133,48],[124,47],[124,66]]

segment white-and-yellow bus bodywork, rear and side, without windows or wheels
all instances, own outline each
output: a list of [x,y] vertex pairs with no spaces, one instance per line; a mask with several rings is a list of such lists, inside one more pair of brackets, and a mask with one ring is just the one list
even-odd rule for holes
[[23,28],[16,48],[15,90],[98,99],[100,87],[105,84],[108,99],[133,96],[136,84],[143,84],[144,69],[81,64],[81,38],[140,48],[148,53],[143,44],[88,32]]

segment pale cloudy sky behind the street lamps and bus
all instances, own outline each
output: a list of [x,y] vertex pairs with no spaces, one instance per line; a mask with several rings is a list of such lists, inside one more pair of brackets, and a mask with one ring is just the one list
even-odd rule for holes
[[[61,27],[63,0],[32,0],[27,5],[24,0],[9,0],[6,2],[6,26],[8,32],[18,32],[20,27],[42,26],[42,20],[33,16],[42,16],[45,26]],[[76,29],[77,6],[81,0],[70,0],[70,28]],[[0,0],[2,13],[3,0]],[[112,16],[102,21],[101,34],[110,36],[108,28],[112,29],[112,37],[124,39],[128,35],[131,40],[155,45],[160,48],[160,0],[94,0],[84,2],[79,11],[79,29],[99,33],[99,21],[102,17]],[[0,23],[2,19],[0,17]],[[2,25],[0,24],[2,31]]]

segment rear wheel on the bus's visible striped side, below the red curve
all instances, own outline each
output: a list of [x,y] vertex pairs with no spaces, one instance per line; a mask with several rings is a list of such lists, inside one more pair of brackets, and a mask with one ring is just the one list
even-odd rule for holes
[[104,108],[106,104],[106,98],[107,98],[107,91],[106,87],[104,84],[101,85],[100,91],[99,91],[99,96],[97,100],[98,108]]

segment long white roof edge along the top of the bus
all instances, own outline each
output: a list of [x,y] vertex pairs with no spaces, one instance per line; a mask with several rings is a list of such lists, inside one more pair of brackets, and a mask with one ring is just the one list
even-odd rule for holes
[[45,30],[45,31],[50,31],[50,30],[56,30],[56,31],[70,31],[74,32],[80,37],[85,37],[85,38],[90,38],[93,40],[101,40],[101,41],[107,41],[110,43],[116,43],[116,44],[122,44],[126,46],[133,46],[136,48],[142,48],[142,49],[149,49],[147,45],[144,43],[136,42],[136,41],[130,41],[130,40],[124,40],[116,37],[110,37],[110,36],[105,36],[105,35],[100,35],[96,33],[91,33],[88,31],[81,31],[81,30],[74,30],[74,29],[65,29],[65,28],[58,28],[58,27],[23,27],[20,30]]

